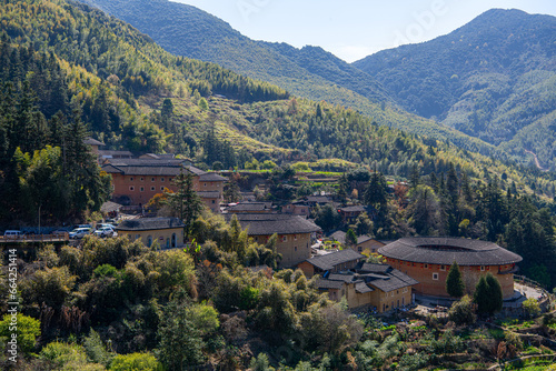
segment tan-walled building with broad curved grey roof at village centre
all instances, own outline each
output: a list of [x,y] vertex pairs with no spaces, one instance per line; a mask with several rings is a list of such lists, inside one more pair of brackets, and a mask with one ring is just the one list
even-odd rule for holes
[[298,215],[276,213],[239,213],[225,214],[227,221],[234,215],[242,229],[248,229],[248,235],[256,242],[264,244],[277,233],[277,251],[282,259],[279,268],[295,267],[311,255],[311,243],[320,228],[314,222]]

